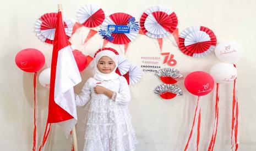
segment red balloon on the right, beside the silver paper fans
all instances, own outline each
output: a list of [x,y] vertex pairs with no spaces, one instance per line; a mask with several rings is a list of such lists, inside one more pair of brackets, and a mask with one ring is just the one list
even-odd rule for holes
[[184,80],[186,89],[193,95],[203,96],[209,94],[214,88],[214,79],[203,71],[189,73]]

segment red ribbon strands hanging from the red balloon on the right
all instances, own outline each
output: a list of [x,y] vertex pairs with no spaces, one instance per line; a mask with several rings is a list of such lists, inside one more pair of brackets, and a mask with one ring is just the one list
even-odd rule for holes
[[[197,115],[199,101],[200,101],[200,96],[198,96],[198,99],[197,99],[197,107],[195,108],[195,114],[194,114],[192,129],[190,130],[188,141],[187,141],[187,144],[186,144],[186,147],[185,147],[184,151],[186,151],[188,149],[188,144],[189,144],[190,139],[191,139],[192,134],[193,134],[193,129],[194,129],[194,125],[195,125],[195,117]],[[200,109],[200,106],[199,106],[198,125],[197,125],[197,150],[198,150],[198,145],[199,145],[199,140],[200,140],[200,123],[201,123],[201,109]]]

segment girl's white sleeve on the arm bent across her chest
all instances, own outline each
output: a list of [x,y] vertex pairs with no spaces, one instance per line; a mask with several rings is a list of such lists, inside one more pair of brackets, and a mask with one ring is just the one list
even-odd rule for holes
[[130,101],[130,89],[124,77],[120,77],[119,80],[119,92],[114,92],[111,99],[119,105],[126,106]]

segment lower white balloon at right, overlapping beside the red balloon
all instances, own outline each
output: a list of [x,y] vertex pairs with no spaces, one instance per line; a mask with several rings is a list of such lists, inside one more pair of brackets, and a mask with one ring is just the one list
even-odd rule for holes
[[211,67],[210,74],[216,83],[231,83],[237,77],[237,69],[230,63],[220,62]]

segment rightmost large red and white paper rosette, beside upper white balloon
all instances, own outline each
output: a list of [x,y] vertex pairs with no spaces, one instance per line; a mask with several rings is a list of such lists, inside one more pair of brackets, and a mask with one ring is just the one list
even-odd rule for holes
[[182,53],[203,57],[210,54],[216,46],[217,39],[213,31],[204,26],[192,26],[179,36],[179,49]]

